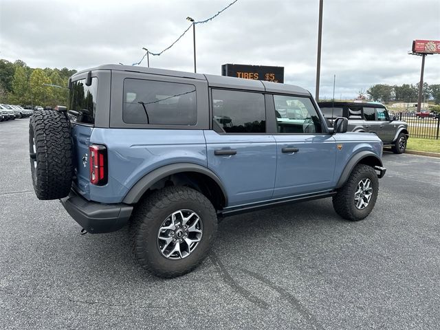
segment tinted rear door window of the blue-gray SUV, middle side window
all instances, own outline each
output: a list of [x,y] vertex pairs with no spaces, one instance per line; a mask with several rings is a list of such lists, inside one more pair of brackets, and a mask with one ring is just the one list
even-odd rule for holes
[[226,133],[265,133],[263,94],[212,89],[214,124]]

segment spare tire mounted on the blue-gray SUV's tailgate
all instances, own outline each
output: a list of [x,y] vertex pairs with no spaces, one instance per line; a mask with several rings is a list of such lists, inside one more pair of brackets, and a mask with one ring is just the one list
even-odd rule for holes
[[69,195],[74,173],[73,146],[65,113],[41,110],[32,114],[29,152],[36,197],[48,200]]

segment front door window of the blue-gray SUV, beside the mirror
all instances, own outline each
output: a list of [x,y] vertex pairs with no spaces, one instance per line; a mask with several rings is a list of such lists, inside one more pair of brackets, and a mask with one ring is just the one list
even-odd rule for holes
[[278,133],[321,133],[320,118],[309,98],[274,95]]

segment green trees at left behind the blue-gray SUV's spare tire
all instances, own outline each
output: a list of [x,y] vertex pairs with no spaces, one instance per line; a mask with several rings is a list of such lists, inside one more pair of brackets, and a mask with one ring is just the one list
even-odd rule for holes
[[0,103],[67,105],[67,82],[75,73],[76,70],[67,67],[34,69],[21,60],[12,63],[0,59]]

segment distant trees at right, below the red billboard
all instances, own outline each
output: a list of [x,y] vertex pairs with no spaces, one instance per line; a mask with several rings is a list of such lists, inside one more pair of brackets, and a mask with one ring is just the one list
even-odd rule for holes
[[[440,85],[428,85],[423,83],[422,102],[423,100],[433,99],[435,104],[440,104]],[[377,84],[371,86],[366,91],[370,98],[375,101],[388,103],[395,102],[417,102],[419,97],[419,83],[416,85],[403,84],[400,86]]]

